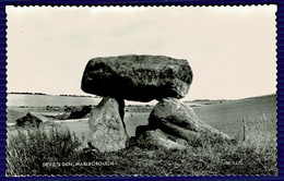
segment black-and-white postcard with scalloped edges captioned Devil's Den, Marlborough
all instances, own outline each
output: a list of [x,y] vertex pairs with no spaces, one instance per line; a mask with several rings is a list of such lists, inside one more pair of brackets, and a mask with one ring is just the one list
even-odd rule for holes
[[277,176],[276,11],[7,5],[7,177]]

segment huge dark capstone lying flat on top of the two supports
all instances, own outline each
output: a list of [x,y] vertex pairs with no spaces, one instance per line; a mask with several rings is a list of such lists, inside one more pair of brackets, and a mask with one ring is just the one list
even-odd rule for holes
[[165,56],[119,56],[88,61],[81,88],[114,98],[150,101],[182,98],[192,81],[187,60]]

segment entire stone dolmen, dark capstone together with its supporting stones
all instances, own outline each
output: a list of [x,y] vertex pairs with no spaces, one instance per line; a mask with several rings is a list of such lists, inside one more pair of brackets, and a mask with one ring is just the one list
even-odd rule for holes
[[188,94],[192,77],[185,59],[138,55],[91,59],[81,88],[103,99],[91,111],[88,145],[102,153],[129,145],[123,122],[125,99],[158,101],[149,124],[137,128],[135,141],[146,146],[184,149],[200,145],[204,138],[230,140],[203,123],[189,106],[179,101]]

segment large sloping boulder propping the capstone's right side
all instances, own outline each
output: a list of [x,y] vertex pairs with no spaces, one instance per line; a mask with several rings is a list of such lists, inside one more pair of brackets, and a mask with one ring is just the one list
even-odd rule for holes
[[147,126],[186,140],[191,145],[200,145],[204,138],[230,140],[226,134],[203,123],[192,108],[176,98],[164,98],[159,101],[150,114]]

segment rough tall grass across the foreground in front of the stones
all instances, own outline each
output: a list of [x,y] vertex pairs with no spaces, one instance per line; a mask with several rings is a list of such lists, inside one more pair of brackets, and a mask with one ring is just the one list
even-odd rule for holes
[[97,153],[81,149],[79,137],[66,129],[22,130],[9,135],[7,174],[275,176],[276,125],[262,119],[262,123],[247,129],[245,140],[242,135],[234,142],[204,138],[201,146],[185,150],[132,145],[116,153]]

